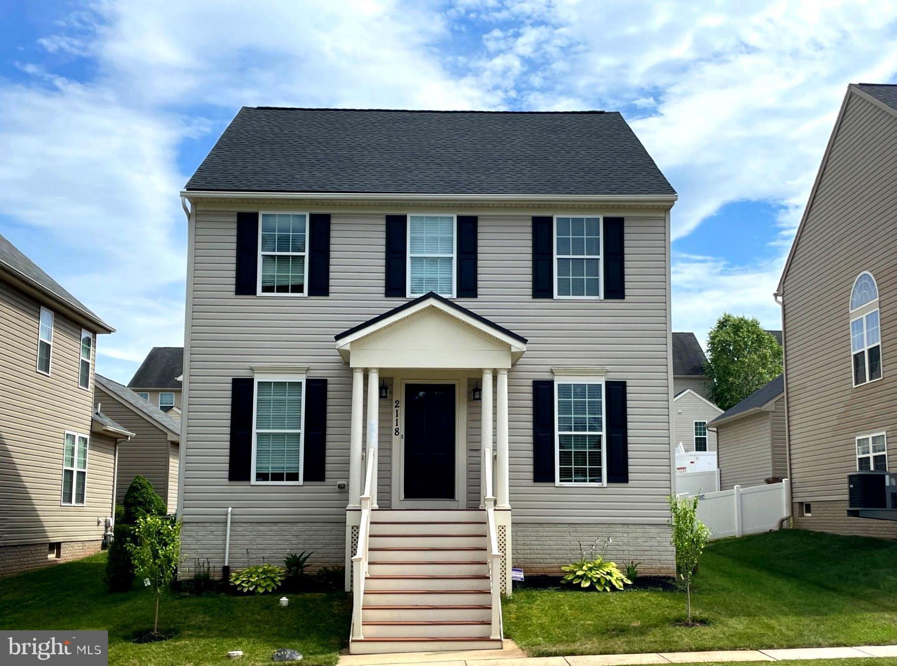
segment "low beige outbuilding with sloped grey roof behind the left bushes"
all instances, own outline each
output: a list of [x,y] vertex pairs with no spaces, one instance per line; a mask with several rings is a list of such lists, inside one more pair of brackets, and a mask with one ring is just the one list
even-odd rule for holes
[[95,400],[104,413],[134,433],[128,445],[118,453],[118,492],[116,501],[125,498],[128,486],[139,474],[146,478],[169,513],[178,506],[180,422],[137,396],[126,386],[98,374]]

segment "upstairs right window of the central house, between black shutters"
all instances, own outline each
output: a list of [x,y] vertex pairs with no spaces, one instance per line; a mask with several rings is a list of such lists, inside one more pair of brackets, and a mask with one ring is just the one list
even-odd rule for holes
[[601,298],[601,217],[554,217],[554,297]]

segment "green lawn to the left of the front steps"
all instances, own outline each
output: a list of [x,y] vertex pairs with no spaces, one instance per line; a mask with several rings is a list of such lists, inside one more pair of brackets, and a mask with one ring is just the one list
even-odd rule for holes
[[175,594],[162,600],[160,630],[176,635],[163,643],[135,644],[152,629],[152,593],[109,594],[101,582],[105,554],[0,580],[0,629],[108,629],[109,664],[200,666],[228,662],[269,664],[279,647],[305,655],[303,664],[335,664],[347,643],[350,602],[343,592],[202,597]]

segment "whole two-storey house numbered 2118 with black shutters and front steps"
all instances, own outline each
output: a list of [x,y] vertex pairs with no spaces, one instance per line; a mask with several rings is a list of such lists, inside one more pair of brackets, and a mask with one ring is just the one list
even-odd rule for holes
[[356,653],[494,646],[593,539],[674,573],[676,196],[619,113],[243,108],[183,196],[188,560],[347,565]]

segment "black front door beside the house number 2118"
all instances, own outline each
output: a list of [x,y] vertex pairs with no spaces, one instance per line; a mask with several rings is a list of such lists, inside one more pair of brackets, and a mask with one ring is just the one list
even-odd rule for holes
[[455,499],[455,384],[405,384],[405,499]]

